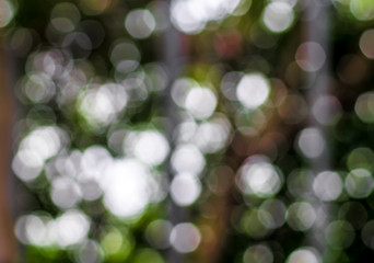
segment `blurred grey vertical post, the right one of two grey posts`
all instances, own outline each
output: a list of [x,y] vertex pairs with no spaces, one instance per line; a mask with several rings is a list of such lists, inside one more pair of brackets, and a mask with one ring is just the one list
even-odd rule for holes
[[[317,102],[318,99],[329,94],[329,68],[330,68],[330,47],[329,47],[329,12],[330,2],[327,0],[316,0],[316,1],[304,1],[306,5],[306,41],[309,43],[317,43],[326,55],[326,60],[324,65],[315,71],[308,73],[306,88],[308,89],[307,99],[309,108]],[[309,62],[313,64],[315,57],[318,57],[318,50],[311,48],[307,50],[307,57]],[[324,105],[325,117],[331,115],[329,111],[329,105]],[[318,130],[322,135],[323,141],[325,141],[325,148],[322,155],[311,160],[311,169],[314,174],[322,171],[330,170],[330,151],[328,148],[328,135],[326,125],[322,124],[309,111],[309,122],[308,125]],[[311,185],[312,187],[313,185]],[[312,190],[313,191],[313,190]],[[328,225],[329,220],[329,206],[327,203],[323,202],[315,196],[311,199],[311,203],[315,206],[317,210],[324,211],[326,215],[324,218],[319,218],[320,221],[317,226],[314,226],[308,235],[308,242],[311,245],[318,249],[320,254],[326,253],[327,245],[325,244],[324,230]]]

